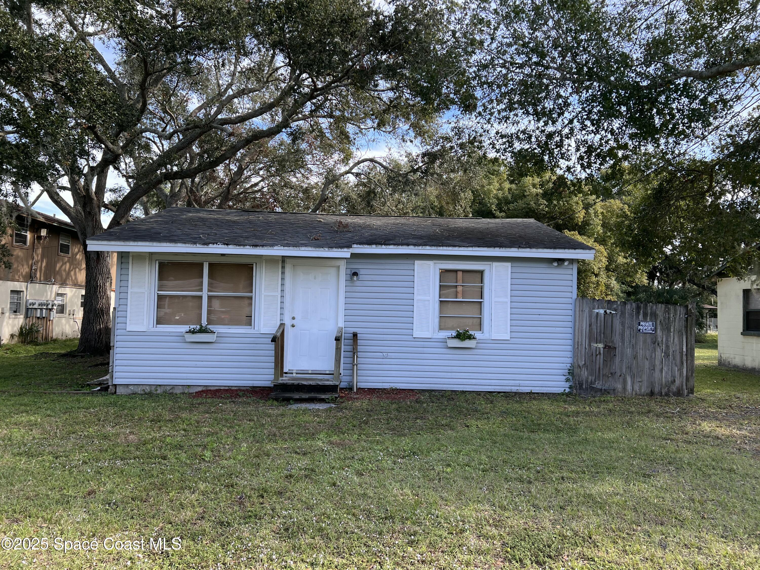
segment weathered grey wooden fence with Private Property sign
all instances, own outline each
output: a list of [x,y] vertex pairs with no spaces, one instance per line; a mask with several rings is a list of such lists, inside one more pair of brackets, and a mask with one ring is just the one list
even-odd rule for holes
[[695,307],[575,300],[578,394],[694,394]]

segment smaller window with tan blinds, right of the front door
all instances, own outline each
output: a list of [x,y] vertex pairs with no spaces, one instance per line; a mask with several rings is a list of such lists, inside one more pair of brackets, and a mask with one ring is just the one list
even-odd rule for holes
[[483,331],[483,271],[439,269],[439,331]]

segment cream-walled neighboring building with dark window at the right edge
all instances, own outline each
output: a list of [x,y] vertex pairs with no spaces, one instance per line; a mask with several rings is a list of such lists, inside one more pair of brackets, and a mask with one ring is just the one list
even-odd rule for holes
[[760,287],[752,283],[737,277],[717,282],[717,358],[720,366],[760,372]]

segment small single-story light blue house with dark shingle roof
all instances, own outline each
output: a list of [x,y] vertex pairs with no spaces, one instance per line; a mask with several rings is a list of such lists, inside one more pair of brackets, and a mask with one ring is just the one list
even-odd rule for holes
[[[124,394],[304,376],[347,386],[353,333],[359,388],[561,392],[577,263],[594,258],[536,220],[179,207],[87,247],[119,255],[112,382]],[[213,342],[185,335],[201,324]],[[449,347],[464,328],[475,346]]]

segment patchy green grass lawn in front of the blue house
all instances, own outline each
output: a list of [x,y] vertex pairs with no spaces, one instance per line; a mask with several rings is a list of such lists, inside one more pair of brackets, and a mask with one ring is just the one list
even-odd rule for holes
[[760,376],[718,368],[714,343],[689,398],[318,411],[43,391],[106,372],[72,347],[0,348],[0,537],[51,541],[2,568],[760,568]]

